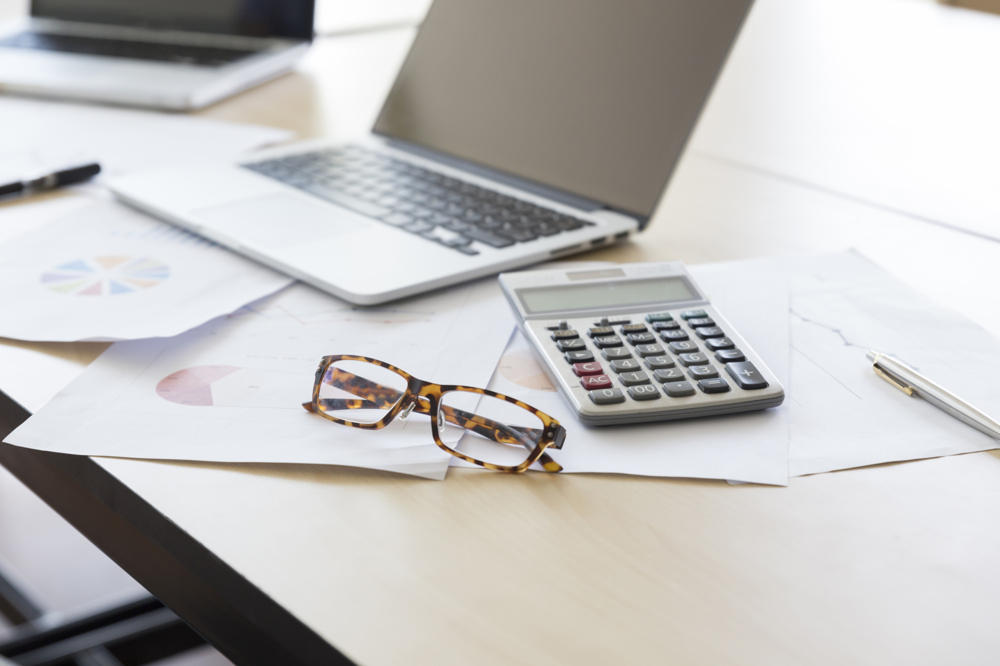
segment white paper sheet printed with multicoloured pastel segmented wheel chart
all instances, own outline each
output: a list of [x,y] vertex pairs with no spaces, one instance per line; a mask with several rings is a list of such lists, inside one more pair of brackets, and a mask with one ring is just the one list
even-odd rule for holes
[[0,337],[172,336],[291,283],[121,204],[86,202],[0,244]]

